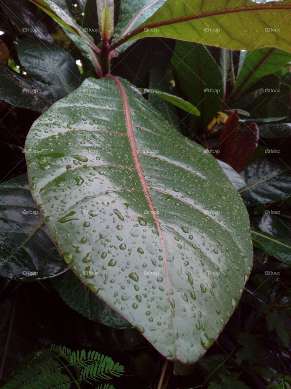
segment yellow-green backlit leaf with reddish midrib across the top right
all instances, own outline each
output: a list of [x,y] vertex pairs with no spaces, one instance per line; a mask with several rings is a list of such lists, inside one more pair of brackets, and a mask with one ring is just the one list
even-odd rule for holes
[[168,37],[233,50],[278,47],[291,51],[291,0],[255,4],[248,0],[168,0],[141,26],[118,39]]

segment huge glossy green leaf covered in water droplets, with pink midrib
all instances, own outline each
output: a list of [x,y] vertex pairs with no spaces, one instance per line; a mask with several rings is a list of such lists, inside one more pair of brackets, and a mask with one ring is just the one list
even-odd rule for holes
[[74,273],[159,352],[196,361],[252,263],[246,209],[215,158],[113,76],[55,103],[26,147],[38,152],[26,155],[33,196]]

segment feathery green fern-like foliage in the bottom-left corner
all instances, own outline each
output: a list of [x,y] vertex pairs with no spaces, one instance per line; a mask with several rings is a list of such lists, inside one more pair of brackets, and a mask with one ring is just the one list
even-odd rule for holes
[[[3,389],[69,389],[73,382],[80,388],[78,381],[111,379],[120,377],[123,371],[119,363],[96,351],[86,354],[85,350],[72,352],[65,346],[52,345],[26,357]],[[100,389],[114,387],[104,384]]]

